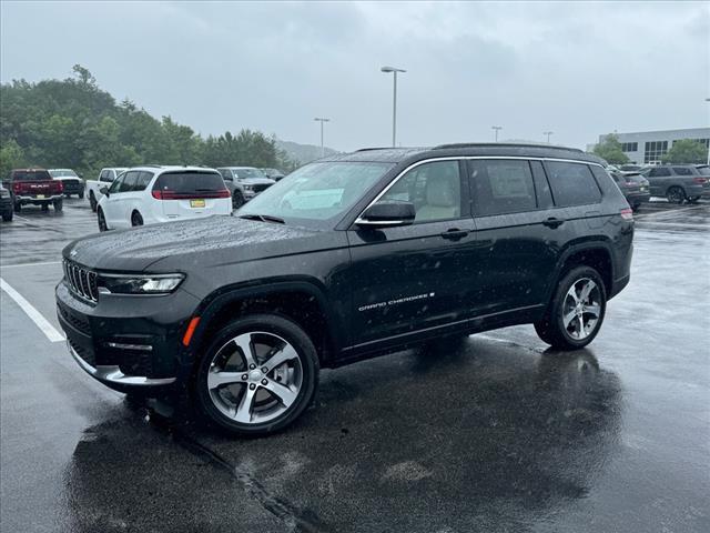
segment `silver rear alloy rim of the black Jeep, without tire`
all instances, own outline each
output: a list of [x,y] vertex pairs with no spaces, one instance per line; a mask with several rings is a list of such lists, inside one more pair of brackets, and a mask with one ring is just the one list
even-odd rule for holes
[[589,278],[582,278],[569,288],[562,301],[562,324],[567,334],[581,341],[597,329],[601,315],[601,292]]

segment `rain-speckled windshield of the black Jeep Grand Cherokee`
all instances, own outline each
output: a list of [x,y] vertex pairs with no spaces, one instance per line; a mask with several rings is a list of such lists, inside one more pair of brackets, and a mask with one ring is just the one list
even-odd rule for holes
[[239,214],[284,219],[286,223],[332,227],[390,168],[392,163],[324,162],[302,167],[243,207]]

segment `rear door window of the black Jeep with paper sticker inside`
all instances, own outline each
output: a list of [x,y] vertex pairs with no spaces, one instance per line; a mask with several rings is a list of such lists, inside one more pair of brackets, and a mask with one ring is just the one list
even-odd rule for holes
[[537,209],[530,163],[524,160],[474,160],[470,163],[475,214],[518,213]]

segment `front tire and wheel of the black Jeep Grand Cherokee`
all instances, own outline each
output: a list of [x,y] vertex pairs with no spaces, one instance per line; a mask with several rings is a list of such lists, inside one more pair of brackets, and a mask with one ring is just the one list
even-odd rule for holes
[[[268,368],[274,358],[276,366]],[[315,346],[300,325],[255,314],[216,333],[197,363],[192,390],[201,411],[221,429],[241,436],[266,435],[293,423],[311,404],[318,370]],[[224,379],[215,378],[219,374]]]

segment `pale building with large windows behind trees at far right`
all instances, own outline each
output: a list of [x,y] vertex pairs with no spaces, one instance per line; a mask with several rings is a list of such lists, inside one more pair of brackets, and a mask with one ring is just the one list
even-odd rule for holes
[[[602,142],[608,134],[609,133],[599,135],[598,142]],[[681,139],[692,139],[693,141],[702,142],[706,149],[710,149],[710,128],[640,131],[636,133],[617,133],[615,131],[613,134],[619,139],[623,153],[637,164],[660,163],[661,158],[670,150],[673,142],[680,141]],[[591,150],[594,147],[595,145],[591,144],[588,149]]]

